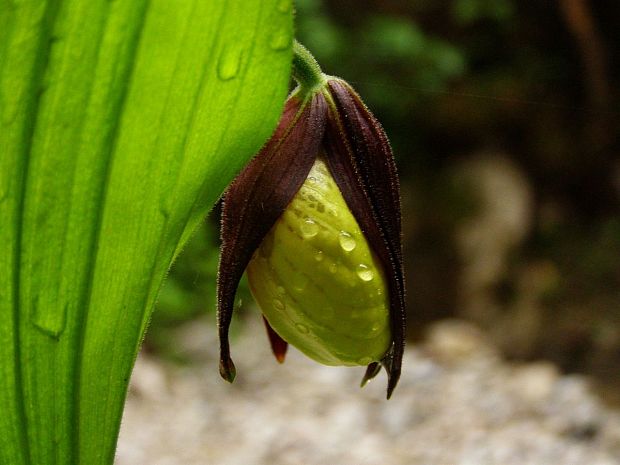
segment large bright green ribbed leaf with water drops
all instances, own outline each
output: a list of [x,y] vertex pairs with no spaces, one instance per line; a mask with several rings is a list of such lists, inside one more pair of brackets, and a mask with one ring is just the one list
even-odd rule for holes
[[290,0],[0,0],[0,463],[113,462],[158,289],[275,126],[291,36]]

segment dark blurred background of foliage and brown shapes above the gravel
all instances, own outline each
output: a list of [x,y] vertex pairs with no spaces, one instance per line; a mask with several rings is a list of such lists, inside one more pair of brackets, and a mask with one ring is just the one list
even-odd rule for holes
[[[620,2],[295,3],[297,38],[391,139],[410,340],[467,320],[504,357],[591,375],[618,405]],[[176,328],[215,324],[218,215],[172,269],[146,352],[184,363]],[[247,287],[238,300],[258,318]]]

